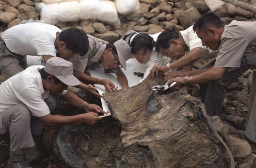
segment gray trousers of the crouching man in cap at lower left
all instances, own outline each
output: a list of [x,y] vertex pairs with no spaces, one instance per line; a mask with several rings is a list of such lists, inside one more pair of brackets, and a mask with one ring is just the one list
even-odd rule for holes
[[[48,105],[51,114],[56,108],[56,98],[50,95],[44,100]],[[18,103],[2,112],[2,124],[10,136],[10,151],[35,146],[32,133],[42,134],[44,124],[31,115],[30,110],[23,103]],[[31,122],[31,125],[30,125]]]

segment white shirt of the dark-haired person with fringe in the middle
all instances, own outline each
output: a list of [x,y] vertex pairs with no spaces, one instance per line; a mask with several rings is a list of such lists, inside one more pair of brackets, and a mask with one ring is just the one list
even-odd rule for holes
[[[139,33],[137,33],[139,34]],[[130,43],[132,42],[133,38],[137,35],[134,34],[131,39],[130,39]],[[161,32],[156,33],[156,34],[148,34],[150,35],[155,41],[157,39],[157,37],[159,36],[159,34],[161,34]],[[142,80],[140,80],[140,82],[142,82],[150,73],[150,70],[153,68],[154,65],[161,65],[164,66],[168,63],[170,63],[171,59],[169,57],[163,56],[162,54],[160,54],[159,52],[156,51],[156,48],[153,48],[153,51],[150,54],[150,58],[148,59],[148,61],[144,64],[140,64],[142,66],[146,66],[147,69],[144,72],[144,76],[142,78]]]

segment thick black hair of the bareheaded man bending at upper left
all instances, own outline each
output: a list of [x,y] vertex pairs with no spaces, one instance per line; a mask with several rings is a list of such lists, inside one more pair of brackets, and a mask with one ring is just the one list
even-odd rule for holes
[[69,28],[60,32],[59,40],[65,42],[66,49],[84,56],[88,52],[89,40],[87,34],[78,28]]

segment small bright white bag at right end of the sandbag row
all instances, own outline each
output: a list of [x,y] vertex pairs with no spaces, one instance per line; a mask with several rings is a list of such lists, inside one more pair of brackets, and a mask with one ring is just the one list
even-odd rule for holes
[[114,0],[119,14],[126,16],[140,10],[140,2],[138,0]]

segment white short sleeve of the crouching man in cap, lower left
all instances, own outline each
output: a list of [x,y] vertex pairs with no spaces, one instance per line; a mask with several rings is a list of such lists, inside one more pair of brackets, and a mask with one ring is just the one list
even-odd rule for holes
[[42,99],[42,94],[39,90],[35,90],[33,86],[24,88],[17,98],[28,107],[32,116],[42,117],[50,113],[47,104]]

